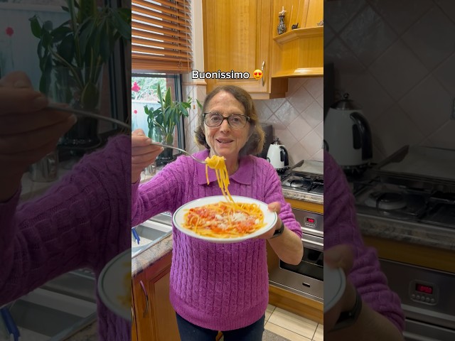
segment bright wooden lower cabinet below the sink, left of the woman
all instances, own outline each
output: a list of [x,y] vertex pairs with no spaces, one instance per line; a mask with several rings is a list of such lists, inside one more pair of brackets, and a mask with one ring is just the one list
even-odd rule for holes
[[132,279],[134,332],[138,341],[180,340],[176,313],[169,301],[171,258],[171,253],[166,254]]

